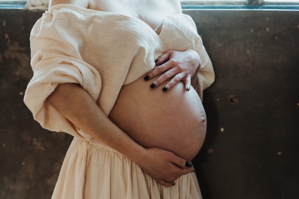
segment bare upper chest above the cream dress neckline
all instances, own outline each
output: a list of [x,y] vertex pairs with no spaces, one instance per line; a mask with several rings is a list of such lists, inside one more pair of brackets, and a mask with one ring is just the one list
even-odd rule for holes
[[139,18],[152,29],[166,15],[182,13],[179,0],[92,0],[89,9],[113,12]]

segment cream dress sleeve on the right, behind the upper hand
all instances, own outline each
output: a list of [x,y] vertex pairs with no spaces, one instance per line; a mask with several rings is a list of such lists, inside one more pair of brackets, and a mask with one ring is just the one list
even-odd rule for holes
[[199,54],[202,65],[197,72],[194,89],[202,100],[203,90],[214,82],[215,74],[212,62],[191,16],[179,13],[165,17],[160,37],[170,50],[185,51],[191,49]]

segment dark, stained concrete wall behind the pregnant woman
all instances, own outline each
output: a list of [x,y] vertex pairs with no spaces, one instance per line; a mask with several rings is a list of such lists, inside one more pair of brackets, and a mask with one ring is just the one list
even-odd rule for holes
[[[23,103],[30,31],[44,10],[0,10],[0,198],[51,198],[72,136]],[[299,12],[184,10],[216,81],[204,91],[207,137],[193,159],[204,198],[298,198]]]

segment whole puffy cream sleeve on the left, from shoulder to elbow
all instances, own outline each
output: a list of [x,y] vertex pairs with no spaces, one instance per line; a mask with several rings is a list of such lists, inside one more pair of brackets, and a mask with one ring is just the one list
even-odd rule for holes
[[[41,27],[42,22],[45,28]],[[66,27],[67,28],[67,27]],[[82,60],[78,42],[67,37],[67,32],[39,19],[30,33],[30,49],[33,77],[28,83],[24,103],[34,120],[50,131],[66,132],[83,140],[92,137],[52,107],[46,98],[59,84],[76,83],[89,93],[96,102],[101,90],[99,72]]]

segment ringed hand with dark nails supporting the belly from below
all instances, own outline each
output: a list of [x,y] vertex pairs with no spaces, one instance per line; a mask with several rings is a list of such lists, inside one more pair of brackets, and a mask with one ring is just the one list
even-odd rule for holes
[[[192,165],[173,152],[158,148],[147,148],[145,155],[138,161],[141,169],[163,186],[172,186],[181,175],[195,171]],[[188,162],[189,163],[189,162]],[[187,165],[188,165],[187,163]],[[175,174],[178,174],[176,177]],[[168,181],[166,181],[166,180]]]

